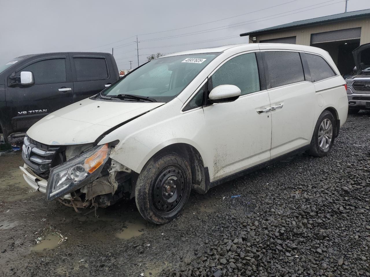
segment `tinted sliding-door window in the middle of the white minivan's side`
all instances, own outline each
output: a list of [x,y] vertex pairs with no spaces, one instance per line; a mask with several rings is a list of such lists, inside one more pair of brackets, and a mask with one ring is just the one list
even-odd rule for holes
[[305,81],[298,52],[267,51],[264,53],[271,88]]

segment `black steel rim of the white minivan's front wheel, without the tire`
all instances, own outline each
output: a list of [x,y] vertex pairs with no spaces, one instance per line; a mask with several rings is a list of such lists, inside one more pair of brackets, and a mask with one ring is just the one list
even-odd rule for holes
[[181,205],[188,189],[186,181],[182,169],[174,165],[159,172],[152,187],[152,203],[159,214],[169,215]]

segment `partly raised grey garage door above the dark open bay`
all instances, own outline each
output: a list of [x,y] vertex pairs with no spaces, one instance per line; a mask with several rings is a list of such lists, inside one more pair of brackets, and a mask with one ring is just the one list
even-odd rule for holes
[[311,44],[338,40],[353,40],[354,38],[361,38],[361,27],[312,34]]

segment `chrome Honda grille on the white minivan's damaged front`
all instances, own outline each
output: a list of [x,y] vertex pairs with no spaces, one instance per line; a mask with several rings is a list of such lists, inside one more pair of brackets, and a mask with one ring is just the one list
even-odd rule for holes
[[22,158],[40,177],[48,177],[51,168],[63,163],[64,153],[61,147],[50,147],[26,136],[22,146]]

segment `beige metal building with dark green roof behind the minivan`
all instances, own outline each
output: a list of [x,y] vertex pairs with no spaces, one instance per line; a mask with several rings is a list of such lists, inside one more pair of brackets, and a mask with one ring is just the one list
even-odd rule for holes
[[[352,51],[370,43],[370,9],[350,11],[277,25],[240,34],[249,43],[274,42],[311,45],[330,53],[342,74],[354,68]],[[370,53],[368,53],[370,59]]]

